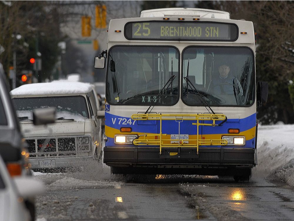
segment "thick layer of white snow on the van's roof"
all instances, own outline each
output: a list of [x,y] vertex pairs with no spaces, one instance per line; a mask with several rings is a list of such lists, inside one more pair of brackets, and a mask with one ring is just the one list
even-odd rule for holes
[[50,82],[22,85],[11,90],[12,96],[20,95],[60,95],[88,93],[92,86],[81,82]]

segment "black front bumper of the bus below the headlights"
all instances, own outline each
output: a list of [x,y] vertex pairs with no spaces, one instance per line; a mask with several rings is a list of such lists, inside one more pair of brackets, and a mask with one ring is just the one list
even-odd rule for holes
[[203,147],[197,155],[196,148],[180,148],[180,151],[177,147],[162,148],[159,154],[159,147],[108,146],[103,152],[103,163],[130,174],[221,175],[222,171],[226,174],[227,170],[251,169],[257,165],[257,151],[253,148]]

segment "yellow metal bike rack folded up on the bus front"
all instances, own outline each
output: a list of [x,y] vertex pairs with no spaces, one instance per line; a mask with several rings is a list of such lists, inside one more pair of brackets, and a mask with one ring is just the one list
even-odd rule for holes
[[[133,114],[131,116],[133,120],[140,121],[148,121],[148,120],[157,120],[160,122],[160,133],[145,133],[142,136],[139,136],[138,139],[133,141],[134,145],[159,145],[159,150],[161,154],[161,149],[163,147],[198,147],[199,146],[224,146],[228,144],[228,141],[223,139],[199,139],[199,126],[217,126],[216,121],[224,121],[226,119],[223,114]],[[162,134],[162,121],[196,121],[197,123],[192,123],[192,125],[196,125],[197,127],[197,139],[179,139],[178,144],[164,144],[164,141],[170,142],[175,141],[172,139],[163,139],[162,136],[166,136],[167,134]],[[200,123],[199,121],[212,121],[212,123]],[[150,138],[148,138],[150,137]],[[157,138],[156,138],[157,137]],[[196,141],[196,144],[185,144],[184,141]]]

